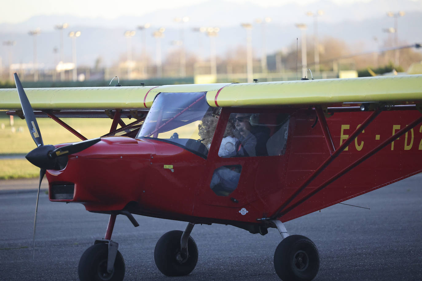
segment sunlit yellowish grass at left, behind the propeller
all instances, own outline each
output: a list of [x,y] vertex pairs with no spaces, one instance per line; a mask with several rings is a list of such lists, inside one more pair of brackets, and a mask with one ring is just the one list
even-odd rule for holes
[[[108,118],[63,118],[62,120],[88,139],[107,134],[112,122]],[[50,118],[38,118],[37,122],[44,144],[80,141],[78,137]],[[124,122],[130,123],[130,120],[124,120]],[[25,120],[14,117],[12,126],[10,118],[4,112],[0,112],[0,157],[11,154],[24,156],[35,147]],[[38,175],[39,168],[24,158],[0,158],[0,179],[32,178]]]

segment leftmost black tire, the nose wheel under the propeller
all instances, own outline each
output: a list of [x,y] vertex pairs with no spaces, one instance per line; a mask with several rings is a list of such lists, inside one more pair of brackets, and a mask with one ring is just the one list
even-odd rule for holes
[[114,269],[107,272],[108,244],[95,244],[82,254],[78,265],[78,275],[81,281],[122,281],[124,278],[124,260],[117,251]]

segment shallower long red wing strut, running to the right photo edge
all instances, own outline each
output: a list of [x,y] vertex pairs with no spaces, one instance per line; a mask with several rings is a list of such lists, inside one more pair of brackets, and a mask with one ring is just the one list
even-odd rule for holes
[[294,203],[292,206],[289,206],[289,208],[284,209],[284,210],[282,208],[280,208],[279,211],[276,212],[276,214],[273,217],[281,217],[281,216],[287,214],[289,211],[291,211],[292,209],[296,208],[297,206],[299,206],[300,204],[302,204],[303,202],[305,202],[306,200],[308,200],[309,198],[311,198],[312,196],[314,196],[315,194],[317,194],[319,191],[321,191],[322,189],[324,189],[325,187],[327,187],[328,185],[330,185],[331,183],[333,183],[336,179],[340,178],[341,176],[343,176],[344,174],[346,174],[347,172],[349,172],[350,170],[352,170],[354,167],[358,166],[360,163],[362,163],[363,161],[365,161],[366,159],[368,159],[369,157],[371,157],[375,153],[379,152],[381,149],[383,149],[387,145],[390,145],[393,141],[395,141],[396,139],[398,139],[403,134],[406,134],[408,131],[410,131],[412,128],[414,128],[416,125],[418,125],[421,122],[422,122],[422,116],[419,117],[418,119],[414,120],[412,123],[410,123],[405,128],[402,128],[400,131],[398,131],[393,136],[390,136],[388,139],[386,139],[380,145],[378,145],[373,150],[371,150],[370,152],[368,152],[365,155],[363,155],[357,161],[354,161],[354,163],[350,164],[349,166],[347,166],[346,168],[344,168],[342,171],[338,172],[335,176],[331,177],[331,179],[328,179],[322,185],[320,185],[319,187],[315,188],[313,191],[311,191],[310,193],[308,193],[308,195],[306,195],[305,197],[303,197],[302,199],[300,199],[298,202]]

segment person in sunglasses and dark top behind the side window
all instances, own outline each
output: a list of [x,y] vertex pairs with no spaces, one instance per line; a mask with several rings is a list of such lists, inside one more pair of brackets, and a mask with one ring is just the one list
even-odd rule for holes
[[235,135],[238,141],[235,145],[235,155],[239,156],[266,156],[267,141],[270,137],[269,129],[259,126],[259,115],[249,113],[237,113],[235,115]]

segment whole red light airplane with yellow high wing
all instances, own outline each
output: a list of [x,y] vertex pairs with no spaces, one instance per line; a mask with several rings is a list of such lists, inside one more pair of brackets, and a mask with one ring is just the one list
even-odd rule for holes
[[[40,185],[46,174],[50,201],[110,215],[105,237],[80,259],[81,280],[124,278],[111,240],[118,214],[134,226],[133,214],[187,222],[155,247],[167,276],[195,268],[194,225],[219,223],[261,235],[276,228],[278,276],[311,280],[317,248],[284,222],[422,171],[422,75],[25,90],[15,80],[20,102],[1,90],[0,109],[26,119],[37,145],[26,157],[41,168]],[[35,116],[82,141],[44,145]],[[113,121],[87,140],[62,117]]]

